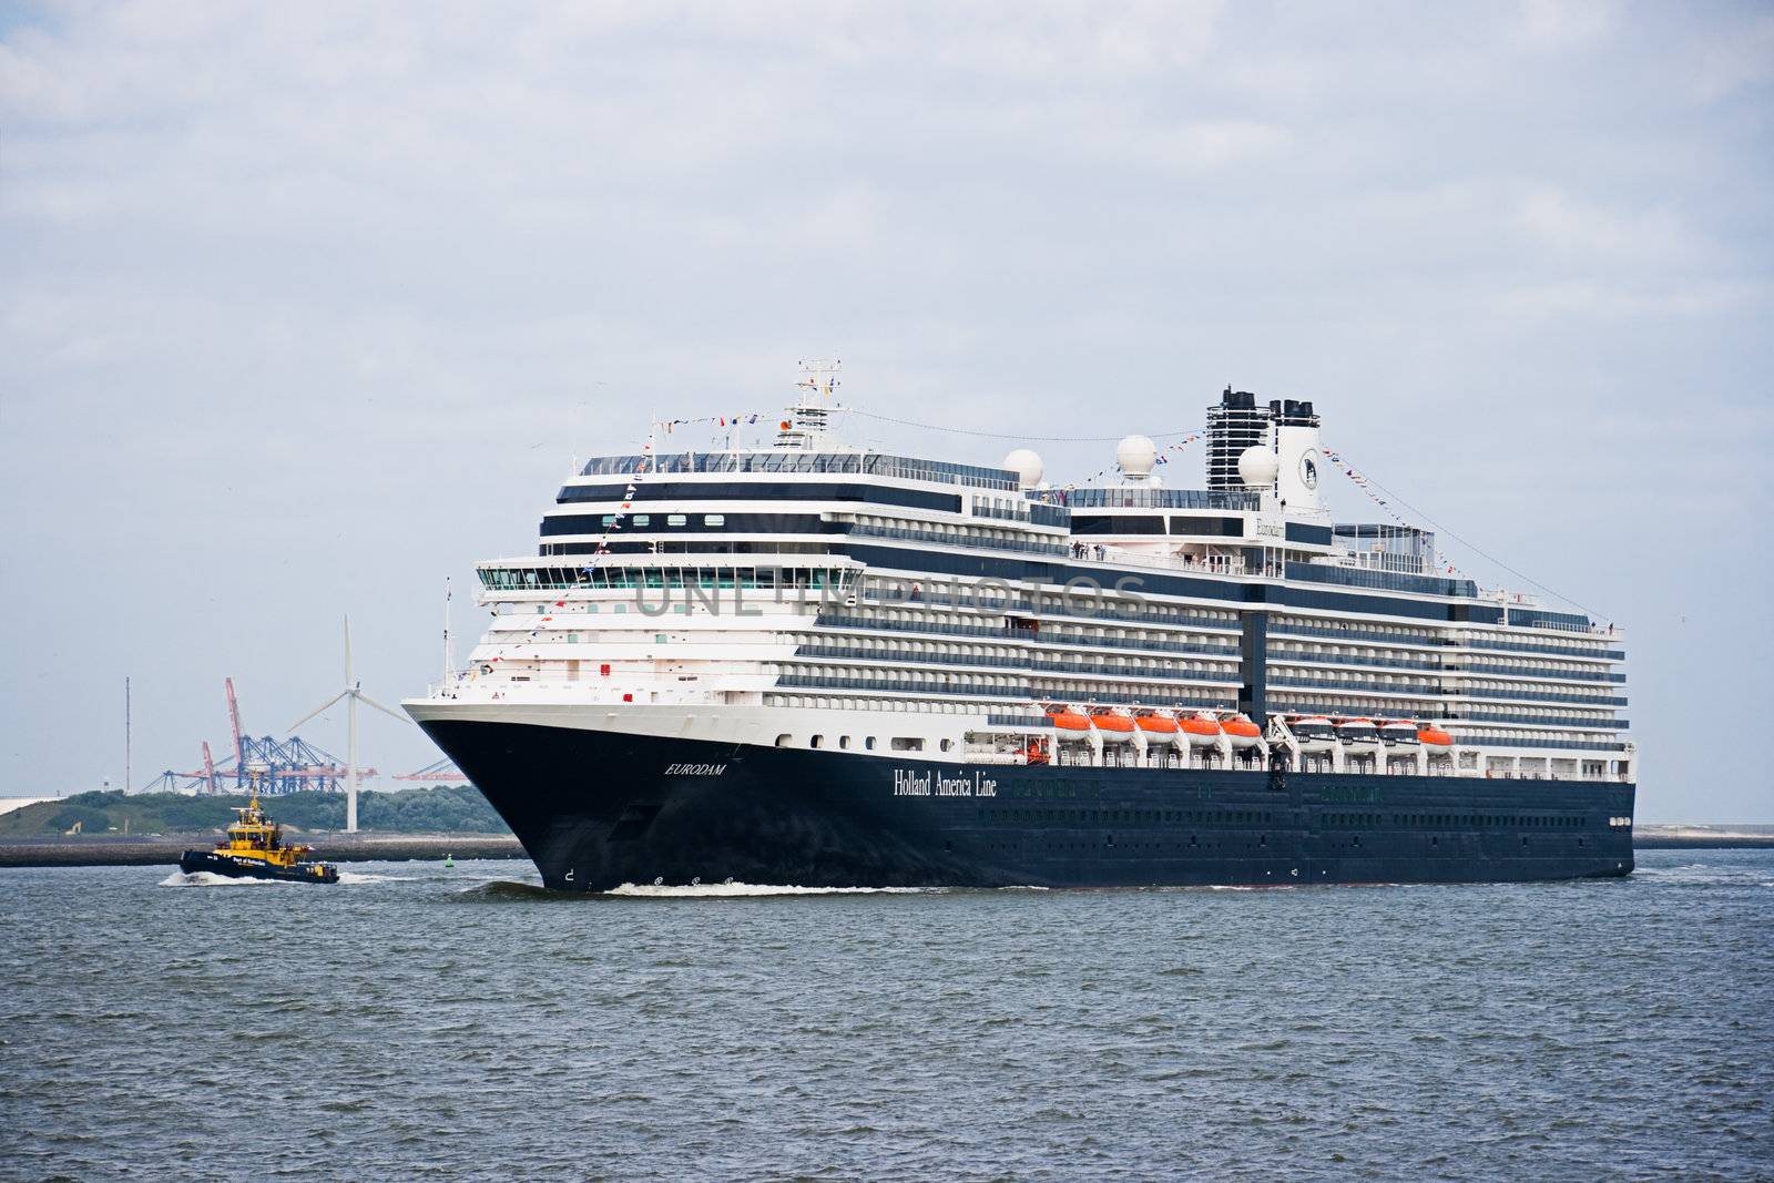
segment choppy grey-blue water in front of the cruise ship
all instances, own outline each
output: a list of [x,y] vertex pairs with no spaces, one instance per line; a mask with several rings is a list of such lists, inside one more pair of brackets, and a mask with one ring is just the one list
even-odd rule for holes
[[1767,1178],[1774,851],[568,899],[0,871],[9,1178]]

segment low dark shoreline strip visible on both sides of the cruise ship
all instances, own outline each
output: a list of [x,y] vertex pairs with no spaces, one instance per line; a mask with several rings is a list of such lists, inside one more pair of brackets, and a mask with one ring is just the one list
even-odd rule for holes
[[[208,850],[215,834],[80,837],[0,837],[4,867],[151,867],[174,866],[186,850]],[[321,862],[442,862],[454,858],[525,858],[509,834],[309,834]],[[1774,827],[1641,827],[1632,850],[1774,850]]]

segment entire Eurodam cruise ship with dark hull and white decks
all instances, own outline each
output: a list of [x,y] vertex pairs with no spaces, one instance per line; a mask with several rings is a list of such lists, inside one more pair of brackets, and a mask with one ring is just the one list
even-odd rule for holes
[[848,447],[834,385],[575,463],[477,564],[484,637],[403,706],[546,887],[1632,871],[1621,631],[1334,521],[1313,403],[1228,388],[1203,490],[1139,435],[1056,486]]

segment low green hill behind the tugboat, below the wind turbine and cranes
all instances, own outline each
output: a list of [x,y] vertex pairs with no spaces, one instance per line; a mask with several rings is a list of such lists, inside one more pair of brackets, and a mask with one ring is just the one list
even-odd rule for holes
[[[0,814],[0,837],[64,834],[83,823],[85,834],[179,834],[220,830],[245,796],[181,793],[80,793]],[[273,821],[296,830],[342,830],[342,793],[291,793],[261,798]],[[468,786],[433,786],[403,793],[358,793],[357,825],[380,834],[509,834],[493,807]]]

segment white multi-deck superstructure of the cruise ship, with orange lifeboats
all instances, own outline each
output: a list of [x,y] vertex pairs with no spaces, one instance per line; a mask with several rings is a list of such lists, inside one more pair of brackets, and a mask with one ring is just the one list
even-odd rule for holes
[[[468,663],[408,709],[992,764],[1632,780],[1623,637],[1336,525],[1311,404],[1222,403],[1213,484],[1130,436],[1112,486],[846,449],[587,461],[538,555],[477,564]],[[1228,392],[1228,401],[1231,392]],[[1361,720],[1371,724],[1362,727]]]

